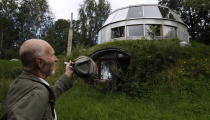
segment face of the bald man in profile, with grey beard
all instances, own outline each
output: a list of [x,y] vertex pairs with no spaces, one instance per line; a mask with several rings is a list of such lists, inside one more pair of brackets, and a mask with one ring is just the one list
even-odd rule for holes
[[55,63],[58,61],[57,57],[55,56],[55,52],[51,46],[47,46],[44,65],[42,68],[42,72],[46,75],[53,75],[55,73]]

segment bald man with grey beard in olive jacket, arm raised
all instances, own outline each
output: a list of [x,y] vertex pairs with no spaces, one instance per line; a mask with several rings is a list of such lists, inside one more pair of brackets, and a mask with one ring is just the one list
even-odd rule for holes
[[25,41],[19,51],[23,65],[22,74],[12,83],[6,98],[9,120],[55,120],[54,101],[72,87],[69,62],[65,73],[49,86],[45,79],[54,74],[58,61],[54,50],[44,40]]

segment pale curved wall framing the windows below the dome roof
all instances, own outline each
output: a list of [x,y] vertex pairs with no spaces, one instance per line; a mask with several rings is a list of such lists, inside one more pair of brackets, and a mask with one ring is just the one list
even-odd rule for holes
[[[177,21],[162,19],[162,18],[141,18],[141,19],[129,19],[129,20],[118,21],[118,22],[111,23],[111,24],[104,26],[99,31],[100,35],[99,35],[98,43],[101,44],[104,42],[109,42],[109,41],[114,41],[114,40],[141,39],[143,36],[138,36],[138,37],[128,37],[127,36],[127,26],[136,25],[136,24],[143,24],[143,25],[160,24],[163,26],[166,25],[166,26],[176,27],[177,38],[179,40],[189,42],[189,38],[188,38],[189,33],[187,31],[186,25],[184,25],[180,22],[177,22]],[[111,29],[115,28],[115,27],[120,27],[120,26],[125,26],[125,36],[112,39]],[[150,39],[148,37],[146,37],[146,38]]]

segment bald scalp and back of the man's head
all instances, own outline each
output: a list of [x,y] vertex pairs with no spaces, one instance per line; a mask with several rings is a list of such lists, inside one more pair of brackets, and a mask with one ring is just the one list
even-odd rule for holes
[[44,40],[30,39],[25,41],[19,50],[23,67],[33,68],[36,57],[45,59],[45,51],[48,47],[51,48],[50,44]]

